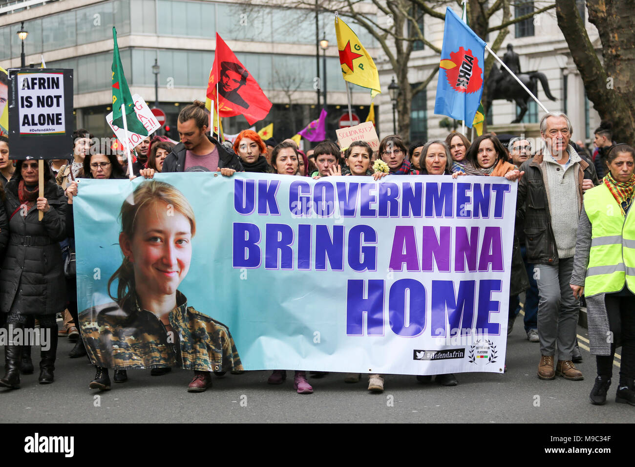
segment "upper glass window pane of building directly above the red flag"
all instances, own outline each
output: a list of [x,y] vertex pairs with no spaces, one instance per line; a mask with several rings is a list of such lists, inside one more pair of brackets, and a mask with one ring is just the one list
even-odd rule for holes
[[216,12],[218,34],[224,39],[271,42],[271,8],[217,3]]

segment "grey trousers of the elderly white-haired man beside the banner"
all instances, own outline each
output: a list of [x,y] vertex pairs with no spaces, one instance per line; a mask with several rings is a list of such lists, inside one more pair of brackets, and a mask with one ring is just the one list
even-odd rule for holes
[[540,353],[558,360],[571,360],[575,346],[580,301],[569,285],[573,258],[560,259],[558,265],[535,264],[538,283],[538,337]]

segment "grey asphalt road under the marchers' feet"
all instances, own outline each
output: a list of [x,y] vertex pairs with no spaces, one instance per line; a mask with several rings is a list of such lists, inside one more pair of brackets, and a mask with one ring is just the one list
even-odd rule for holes
[[[70,342],[60,337],[53,384],[37,384],[36,373],[22,376],[20,389],[0,389],[3,423],[632,423],[633,408],[615,403],[618,368],[608,403],[589,403],[594,357],[585,349],[586,330],[578,327],[584,381],[541,381],[540,351],[526,339],[522,318],[507,342],[505,374],[457,374],[458,386],[421,384],[413,376],[385,377],[383,394],[345,384],[331,373],[309,379],[312,395],[298,395],[293,380],[266,384],[269,372],[214,377],[213,388],[188,393],[192,372],[173,370],[160,377],[129,371],[128,382],[99,393],[88,388],[95,374],[85,358],[70,359]],[[36,355],[34,349],[33,355]],[[0,352],[4,358],[4,350]],[[34,359],[36,360],[36,359]],[[37,365],[37,362],[36,362]],[[112,372],[111,372],[112,379]]]

